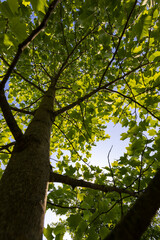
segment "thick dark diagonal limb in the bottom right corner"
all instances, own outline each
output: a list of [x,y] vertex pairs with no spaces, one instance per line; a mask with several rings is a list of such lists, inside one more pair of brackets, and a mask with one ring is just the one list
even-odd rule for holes
[[139,240],[160,208],[160,169],[126,216],[104,240]]

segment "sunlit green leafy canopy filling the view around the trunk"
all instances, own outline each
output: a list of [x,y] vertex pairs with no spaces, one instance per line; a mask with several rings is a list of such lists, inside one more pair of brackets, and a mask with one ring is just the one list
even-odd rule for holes
[[[59,114],[51,133],[50,154],[61,174],[140,193],[160,167],[160,5],[159,1],[62,1],[46,28],[23,51],[5,93],[11,107],[34,112],[51,79],[56,83],[54,110],[95,94]],[[7,0],[0,3],[0,78],[18,45],[36,29],[51,1]],[[131,13],[131,15],[129,15]],[[129,17],[130,16],[130,17]],[[12,109],[25,132],[33,115]],[[92,146],[109,138],[107,124],[120,123],[126,152],[111,166],[89,164]],[[126,130],[127,129],[127,130]],[[0,112],[2,175],[13,139]],[[118,148],[118,146],[116,146]],[[105,151],[105,149],[104,149]],[[107,154],[107,153],[106,153]],[[103,239],[135,198],[126,193],[50,184],[48,208],[66,220],[47,226],[48,240]],[[151,232],[159,237],[159,222]],[[157,238],[158,239],[158,238]]]

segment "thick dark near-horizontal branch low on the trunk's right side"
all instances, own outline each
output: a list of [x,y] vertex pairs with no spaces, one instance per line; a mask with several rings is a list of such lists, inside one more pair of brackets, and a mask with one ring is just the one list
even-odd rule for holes
[[118,192],[118,193],[127,193],[131,196],[136,196],[136,193],[123,189],[123,188],[118,188],[118,187],[112,187],[112,186],[107,186],[107,185],[99,185],[91,182],[86,182],[84,180],[78,180],[74,179],[72,177],[66,176],[66,175],[61,175],[58,173],[51,172],[50,173],[50,182],[60,182],[60,183],[65,183],[73,188],[75,187],[86,187],[86,188],[91,188],[95,190],[100,190],[102,192],[108,193],[108,192]]

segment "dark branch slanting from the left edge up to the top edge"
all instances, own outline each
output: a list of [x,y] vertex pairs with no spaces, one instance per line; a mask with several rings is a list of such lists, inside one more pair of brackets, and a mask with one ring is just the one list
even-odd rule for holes
[[41,22],[41,24],[36,28],[34,29],[31,34],[21,43],[19,44],[18,46],[18,50],[17,50],[17,53],[10,65],[10,67],[8,68],[8,71],[7,73],[5,74],[3,80],[1,81],[0,83],[0,89],[3,89],[5,87],[5,84],[6,82],[8,81],[8,78],[10,77],[14,67],[16,66],[23,50],[30,44],[31,41],[33,41],[33,39],[46,27],[47,25],[47,22],[49,20],[49,17],[51,15],[51,13],[53,12],[53,10],[55,9],[55,7],[57,6],[57,4],[60,2],[60,0],[54,0],[49,8],[48,8],[48,11],[47,13],[45,14],[44,18],[43,18],[43,21]]

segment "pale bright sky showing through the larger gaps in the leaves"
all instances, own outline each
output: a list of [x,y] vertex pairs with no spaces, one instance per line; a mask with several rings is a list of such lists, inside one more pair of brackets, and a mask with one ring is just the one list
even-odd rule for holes
[[[110,135],[110,139],[106,139],[105,141],[99,141],[96,143],[97,146],[92,148],[92,157],[89,162],[92,165],[97,165],[100,167],[108,166],[108,153],[112,147],[112,151],[110,152],[110,161],[119,159],[119,157],[126,151],[126,147],[129,144],[129,141],[126,139],[125,141],[120,141],[120,134],[122,132],[126,132],[127,128],[122,128],[120,124],[114,125],[113,123],[109,123],[107,125],[106,134]],[[61,217],[61,216],[59,216]],[[52,222],[56,223],[59,219],[51,210],[48,210],[45,216],[45,227],[47,224],[51,224]],[[62,217],[61,217],[62,218]],[[43,240],[46,240],[44,237]],[[64,240],[72,240],[68,233],[65,234]]]

